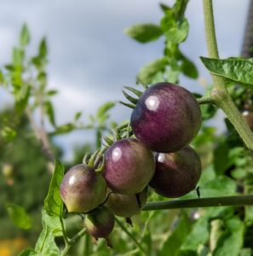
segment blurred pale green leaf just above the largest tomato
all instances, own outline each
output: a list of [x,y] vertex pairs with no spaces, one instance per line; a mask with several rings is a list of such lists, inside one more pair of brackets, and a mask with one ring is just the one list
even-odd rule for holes
[[137,81],[140,84],[152,84],[152,79],[158,72],[164,72],[167,64],[168,61],[166,58],[160,58],[150,62],[141,68],[140,73],[137,75]]

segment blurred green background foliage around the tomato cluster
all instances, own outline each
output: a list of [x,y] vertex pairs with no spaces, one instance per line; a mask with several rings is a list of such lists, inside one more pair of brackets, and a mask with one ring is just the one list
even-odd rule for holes
[[[187,38],[189,24],[184,17],[187,0],[176,1],[173,7],[160,5],[164,16],[160,24],[131,26],[125,33],[141,44],[164,37],[164,55],[141,68],[137,83],[158,81],[177,83],[181,74],[198,78],[198,70],[180,44]],[[43,38],[38,52],[26,56],[30,32],[25,25],[20,42],[13,49],[12,61],[2,68],[0,81],[14,96],[14,107],[0,113],[0,255],[17,255],[25,247],[34,247],[42,230],[41,210],[53,172],[52,154],[62,157],[54,137],[75,130],[90,129],[96,140],[73,148],[72,161],[64,163],[66,170],[80,163],[83,155],[101,145],[101,137],[117,124],[110,120],[109,111],[115,102],[107,102],[97,113],[81,121],[82,113],[57,125],[51,98],[57,94],[47,89],[47,43]],[[211,86],[211,85],[210,85]],[[251,88],[227,83],[234,102],[253,127]],[[208,90],[206,91],[208,94]],[[200,95],[195,94],[196,97]],[[227,131],[216,135],[209,120],[216,108],[201,106],[204,122],[192,143],[201,157],[202,177],[198,183],[201,197],[247,195],[253,191],[253,156],[244,147],[232,125],[224,119]],[[196,191],[183,197],[197,198]],[[149,201],[163,201],[149,191]],[[20,219],[21,216],[21,219]],[[134,227],[118,219],[112,232],[113,249],[105,241],[91,241],[83,236],[69,255],[229,255],[250,256],[253,253],[253,207],[213,207],[191,210],[141,212],[133,218]],[[81,218],[66,220],[67,233],[73,236],[82,227]],[[62,246],[60,237],[55,241]]]

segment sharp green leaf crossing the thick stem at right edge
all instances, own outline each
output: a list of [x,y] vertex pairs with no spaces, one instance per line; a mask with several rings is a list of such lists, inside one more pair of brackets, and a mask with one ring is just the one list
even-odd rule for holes
[[241,84],[253,85],[253,58],[200,59],[211,73]]

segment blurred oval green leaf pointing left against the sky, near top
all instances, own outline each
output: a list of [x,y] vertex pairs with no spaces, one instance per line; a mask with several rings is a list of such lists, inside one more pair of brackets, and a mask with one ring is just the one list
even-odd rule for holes
[[126,28],[124,33],[128,35],[129,38],[134,38],[140,43],[147,43],[157,40],[162,36],[163,31],[155,24],[138,24]]

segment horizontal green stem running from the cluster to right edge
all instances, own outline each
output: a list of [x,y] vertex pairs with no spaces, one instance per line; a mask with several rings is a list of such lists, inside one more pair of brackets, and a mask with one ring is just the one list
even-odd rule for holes
[[149,202],[142,211],[198,208],[198,207],[227,207],[253,205],[253,195],[209,197],[190,200],[156,201]]

